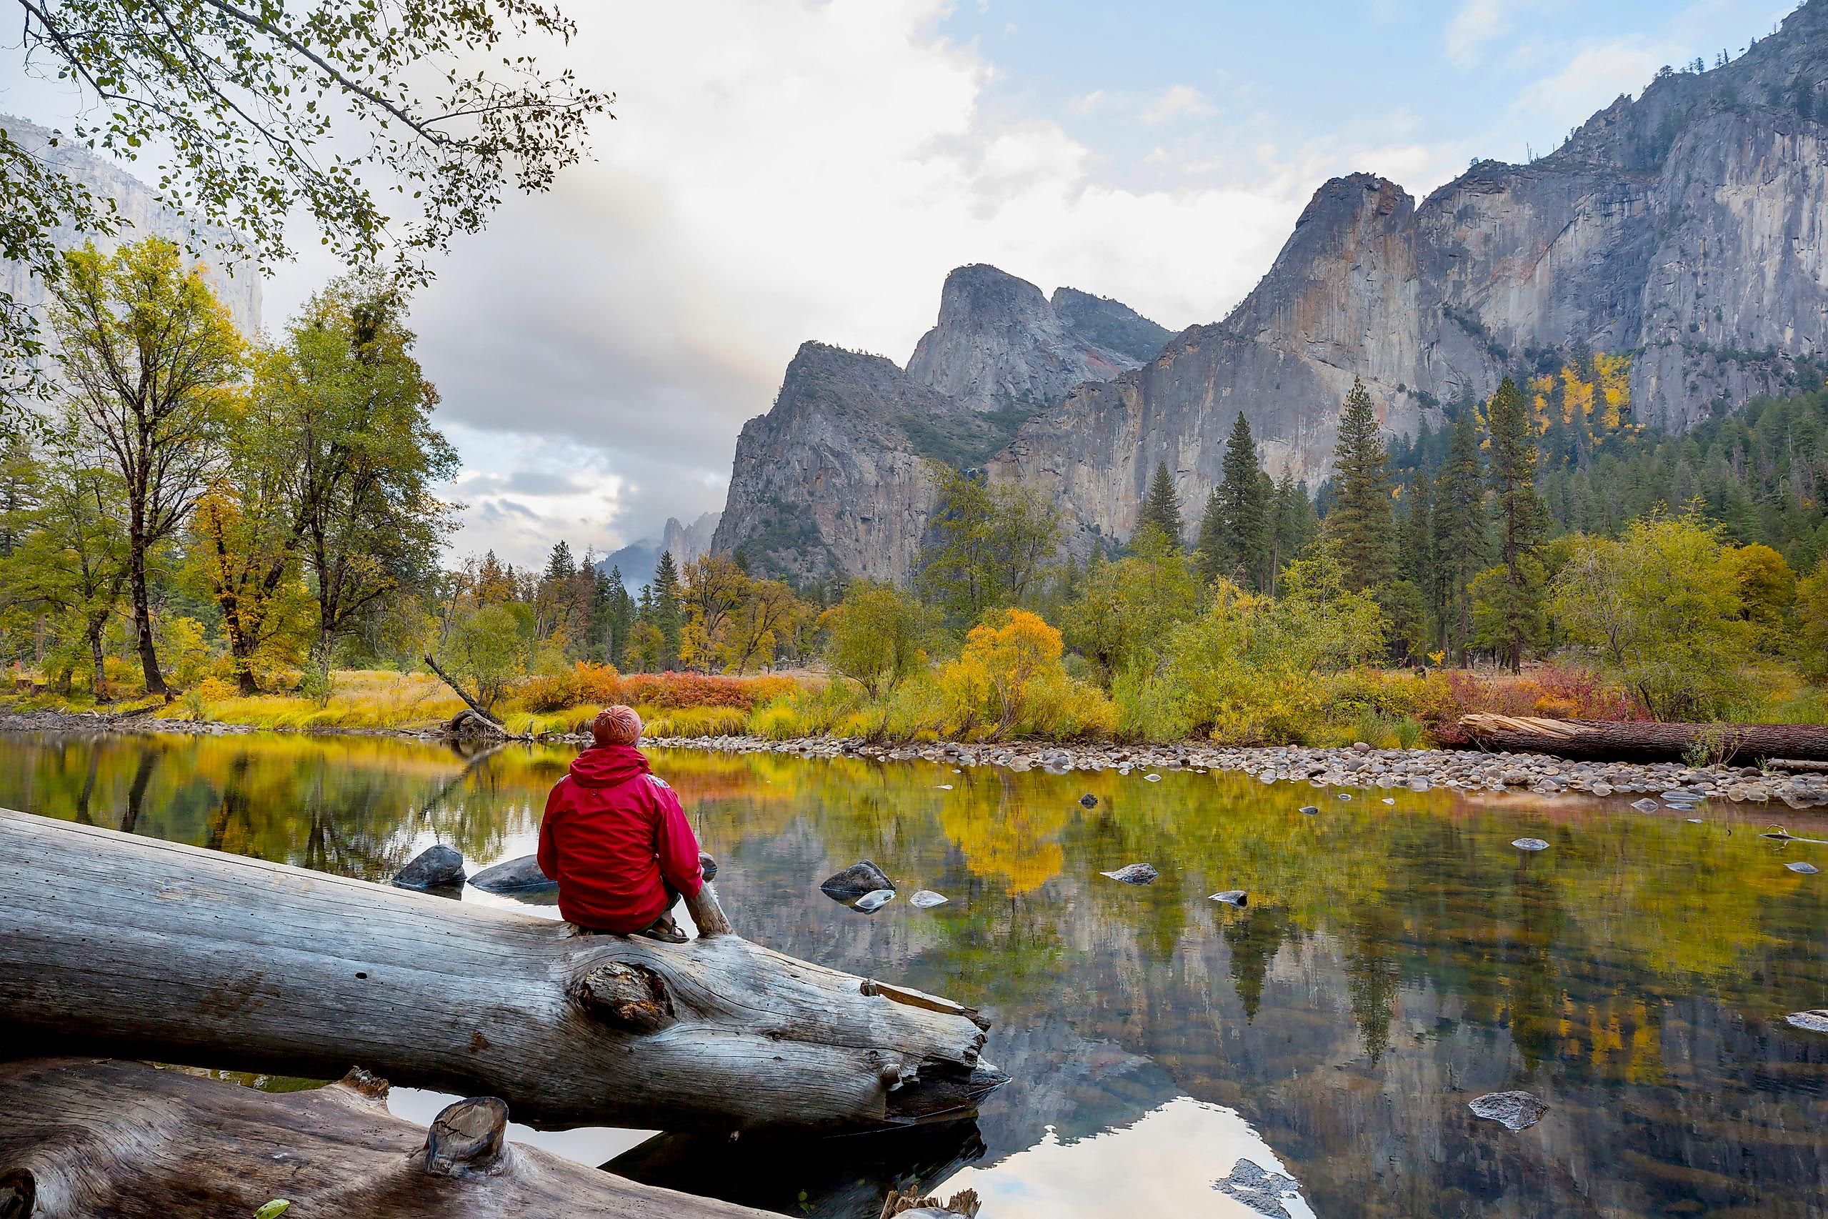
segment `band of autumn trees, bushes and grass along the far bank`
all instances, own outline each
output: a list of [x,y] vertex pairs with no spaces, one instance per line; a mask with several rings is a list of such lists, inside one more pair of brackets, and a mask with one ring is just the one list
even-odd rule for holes
[[[1802,393],[1685,437],[1634,420],[1629,356],[1541,355],[1397,439],[1355,382],[1318,493],[1270,479],[1239,413],[1205,506],[1157,464],[1124,539],[934,464],[923,545],[885,556],[901,579],[781,535],[665,552],[631,594],[563,541],[539,567],[441,567],[457,459],[399,285],[333,281],[247,340],[170,243],[66,261],[68,387],[0,435],[20,709],[428,731],[470,704],[539,737],[627,702],[656,738],[872,746],[1457,747],[1470,713],[1828,724],[1813,364]],[[144,402],[130,373],[175,358],[207,376]],[[183,426],[144,431],[148,411]],[[122,464],[128,431],[144,461]]]

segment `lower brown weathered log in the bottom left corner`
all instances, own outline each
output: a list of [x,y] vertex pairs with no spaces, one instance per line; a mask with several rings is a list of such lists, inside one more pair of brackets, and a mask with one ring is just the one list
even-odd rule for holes
[[[0,1215],[168,1219],[764,1219],[505,1140],[508,1108],[459,1100],[430,1129],[388,1113],[388,1082],[263,1093],[137,1062],[0,1064]],[[515,1115],[519,1117],[519,1115]]]

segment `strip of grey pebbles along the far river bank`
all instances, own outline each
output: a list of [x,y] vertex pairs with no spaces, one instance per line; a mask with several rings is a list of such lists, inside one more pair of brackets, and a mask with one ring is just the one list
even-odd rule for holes
[[1461,791],[1532,791],[1536,795],[1660,797],[1682,790],[1689,799],[1828,806],[1828,773],[1786,773],[1757,766],[1682,762],[1570,762],[1541,753],[1477,749],[1344,749],[1305,746],[1047,746],[1047,744],[912,744],[870,746],[857,740],[766,740],[762,737],[675,737],[643,744],[724,753],[786,753],[804,758],[856,757],[885,762],[1000,766],[1013,771],[1243,771],[1263,782],[1316,788],[1455,788]]

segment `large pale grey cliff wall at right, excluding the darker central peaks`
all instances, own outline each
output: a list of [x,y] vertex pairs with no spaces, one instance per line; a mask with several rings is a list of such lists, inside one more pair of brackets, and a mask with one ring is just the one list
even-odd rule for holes
[[1658,77],[1528,166],[1420,207],[1325,183],[1269,274],[1148,366],[1073,389],[991,464],[1053,490],[1075,550],[1122,539],[1155,462],[1190,517],[1239,411],[1276,475],[1331,464],[1362,376],[1391,433],[1539,353],[1632,355],[1640,422],[1684,429],[1782,391],[1828,345],[1828,0],[1707,73]]

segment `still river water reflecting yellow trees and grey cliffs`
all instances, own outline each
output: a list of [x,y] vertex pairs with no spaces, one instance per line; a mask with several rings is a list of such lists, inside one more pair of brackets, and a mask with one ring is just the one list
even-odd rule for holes
[[[472,870],[532,852],[569,757],[0,737],[0,806],[384,881],[435,841]],[[1828,839],[1821,815],[653,758],[740,932],[982,1007],[1013,1080],[976,1124],[918,1135],[541,1137],[561,1153],[845,1219],[914,1182],[974,1188],[985,1219],[1249,1217],[1216,1190],[1239,1159],[1292,1179],[1270,1203],[1291,1219],[1828,1215],[1828,1036],[1782,1020],[1828,1007],[1828,846],[1759,837]],[[874,916],[817,888],[865,857],[901,886]],[[1128,863],[1161,879],[1099,875]],[[916,910],[916,888],[951,901]],[[1208,899],[1227,888],[1249,905]],[[1537,1126],[1466,1109],[1512,1087],[1548,1102]],[[397,1104],[424,1120],[437,1098]]]

